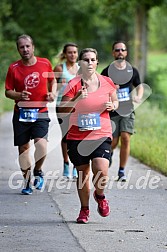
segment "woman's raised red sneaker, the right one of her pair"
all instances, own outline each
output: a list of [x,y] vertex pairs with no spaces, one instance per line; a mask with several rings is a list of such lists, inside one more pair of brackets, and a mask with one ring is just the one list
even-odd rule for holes
[[110,214],[110,207],[108,204],[108,200],[104,199],[98,199],[96,196],[96,191],[94,191],[94,199],[98,203],[97,211],[102,217],[106,217]]

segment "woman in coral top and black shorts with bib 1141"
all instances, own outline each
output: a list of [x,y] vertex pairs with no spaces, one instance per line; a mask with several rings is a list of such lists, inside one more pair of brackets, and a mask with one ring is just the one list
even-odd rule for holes
[[118,108],[118,99],[112,80],[96,72],[98,54],[95,49],[83,49],[79,64],[82,74],[68,83],[59,113],[71,113],[67,146],[70,160],[78,171],[77,189],[81,209],[77,222],[87,223],[90,214],[90,164],[97,210],[102,217],[110,213],[104,195],[112,140],[109,111]]

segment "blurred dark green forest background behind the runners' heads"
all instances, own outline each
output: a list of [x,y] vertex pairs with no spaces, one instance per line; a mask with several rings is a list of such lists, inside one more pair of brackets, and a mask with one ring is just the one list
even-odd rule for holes
[[1,0],[0,84],[8,65],[19,57],[15,40],[23,33],[33,37],[36,55],[53,63],[68,41],[94,47],[100,62],[110,62],[111,44],[124,40],[129,60],[144,80],[148,50],[167,50],[166,10],[166,0]]

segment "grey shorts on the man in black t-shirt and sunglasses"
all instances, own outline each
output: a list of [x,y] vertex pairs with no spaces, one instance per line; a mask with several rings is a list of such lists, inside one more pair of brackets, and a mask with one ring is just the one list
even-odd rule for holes
[[120,115],[110,117],[113,129],[113,137],[119,137],[121,132],[134,133],[135,113],[123,117]]

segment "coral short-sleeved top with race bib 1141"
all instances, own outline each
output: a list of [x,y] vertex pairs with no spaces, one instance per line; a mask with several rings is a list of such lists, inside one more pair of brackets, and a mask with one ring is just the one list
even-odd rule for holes
[[[87,98],[80,99],[75,106],[75,111],[70,115],[67,139],[112,138],[111,122],[105,103],[109,101],[109,95],[115,91],[115,85],[109,77],[100,74],[97,74],[97,77],[100,83],[98,90],[88,93]],[[69,82],[64,95],[73,98],[80,89],[81,76],[77,76]],[[87,128],[87,125],[90,128]],[[93,130],[91,130],[91,126]]]

